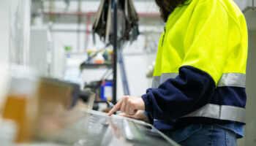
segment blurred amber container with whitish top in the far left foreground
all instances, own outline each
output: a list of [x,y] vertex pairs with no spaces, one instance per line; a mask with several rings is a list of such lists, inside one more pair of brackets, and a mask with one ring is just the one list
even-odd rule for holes
[[16,123],[18,129],[15,142],[28,142],[33,135],[34,120],[37,115],[37,102],[33,98],[35,84],[30,74],[21,71],[12,72],[2,118]]

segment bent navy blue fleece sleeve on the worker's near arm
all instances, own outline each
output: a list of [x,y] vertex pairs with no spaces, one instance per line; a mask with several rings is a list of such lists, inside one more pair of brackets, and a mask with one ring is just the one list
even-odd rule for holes
[[216,88],[209,74],[192,66],[182,66],[174,79],[148,88],[142,96],[151,118],[171,120],[187,115],[208,104]]

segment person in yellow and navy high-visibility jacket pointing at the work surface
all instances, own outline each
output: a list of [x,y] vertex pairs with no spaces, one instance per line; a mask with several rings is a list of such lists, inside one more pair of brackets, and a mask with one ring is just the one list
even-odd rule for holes
[[236,145],[244,134],[248,38],[233,0],[155,0],[165,30],[153,85],[108,113],[154,124],[181,145]]

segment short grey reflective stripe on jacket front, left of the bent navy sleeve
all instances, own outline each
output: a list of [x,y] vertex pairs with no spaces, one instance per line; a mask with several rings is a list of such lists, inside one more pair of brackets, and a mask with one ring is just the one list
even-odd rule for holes
[[162,74],[161,76],[154,76],[152,82],[152,88],[158,88],[160,84],[165,82],[170,78],[175,78],[178,76],[178,73],[166,73]]

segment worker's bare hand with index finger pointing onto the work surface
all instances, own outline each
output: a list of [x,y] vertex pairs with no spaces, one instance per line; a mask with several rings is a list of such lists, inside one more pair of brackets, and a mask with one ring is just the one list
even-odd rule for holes
[[143,99],[132,96],[124,96],[115,107],[108,112],[108,115],[112,115],[116,111],[124,112],[126,115],[135,115],[138,110],[145,110],[145,104]]

